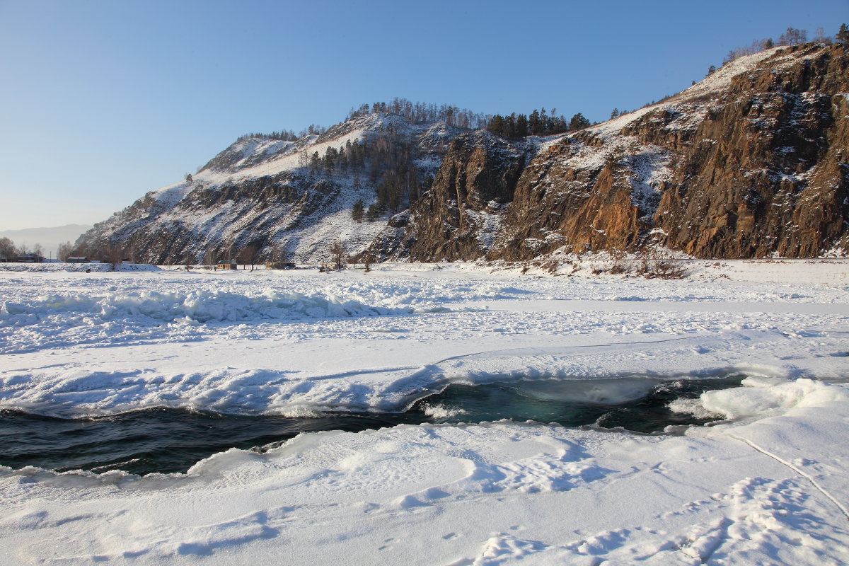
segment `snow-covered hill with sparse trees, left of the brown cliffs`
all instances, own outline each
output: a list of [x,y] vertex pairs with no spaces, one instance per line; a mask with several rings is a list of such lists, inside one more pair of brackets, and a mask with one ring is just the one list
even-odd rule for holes
[[254,249],[248,255],[259,261],[325,262],[330,244],[340,240],[355,254],[392,211],[384,207],[356,221],[357,201],[368,210],[380,184],[395,183],[392,208],[408,205],[461,132],[444,122],[413,124],[379,113],[294,142],[240,138],[196,175],[151,191],[96,225],[76,243],[77,253],[208,263]]

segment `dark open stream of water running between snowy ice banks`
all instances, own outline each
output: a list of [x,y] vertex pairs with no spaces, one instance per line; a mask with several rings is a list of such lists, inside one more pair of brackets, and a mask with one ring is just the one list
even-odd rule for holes
[[[503,418],[565,426],[594,423],[653,432],[669,424],[705,423],[692,415],[673,413],[666,405],[678,398],[696,398],[709,389],[738,386],[743,377],[449,385],[441,393],[416,402],[407,412],[340,413],[318,418],[150,409],[70,420],[3,411],[0,465],[57,471],[120,469],[133,474],[185,472],[194,462],[216,452],[273,446],[301,432],[357,432],[397,424],[480,423]],[[621,401],[624,398],[629,401]]]

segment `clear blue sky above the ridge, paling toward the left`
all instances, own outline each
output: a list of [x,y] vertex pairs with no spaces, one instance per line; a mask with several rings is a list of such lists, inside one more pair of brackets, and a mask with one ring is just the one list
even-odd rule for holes
[[0,0],[0,230],[94,223],[245,132],[393,97],[605,120],[849,0]]

